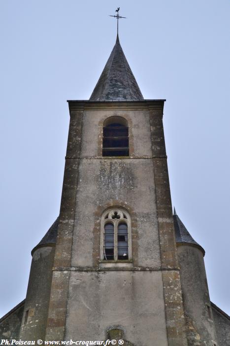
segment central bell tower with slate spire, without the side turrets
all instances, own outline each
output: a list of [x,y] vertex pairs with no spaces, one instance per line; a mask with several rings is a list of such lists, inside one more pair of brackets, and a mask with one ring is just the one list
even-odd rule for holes
[[186,346],[164,144],[117,40],[70,125],[46,340]]

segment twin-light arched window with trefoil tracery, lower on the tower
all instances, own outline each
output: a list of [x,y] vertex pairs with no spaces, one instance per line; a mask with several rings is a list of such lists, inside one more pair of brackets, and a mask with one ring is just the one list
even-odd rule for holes
[[116,208],[102,214],[100,259],[131,259],[131,218],[126,210]]

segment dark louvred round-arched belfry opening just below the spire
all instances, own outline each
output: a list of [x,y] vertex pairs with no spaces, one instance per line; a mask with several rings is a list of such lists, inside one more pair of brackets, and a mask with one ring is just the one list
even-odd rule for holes
[[125,118],[110,117],[105,120],[102,156],[129,156],[129,127]]

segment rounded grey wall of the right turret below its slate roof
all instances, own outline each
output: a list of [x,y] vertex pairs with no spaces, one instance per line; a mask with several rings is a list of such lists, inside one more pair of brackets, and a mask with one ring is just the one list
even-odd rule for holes
[[[178,246],[180,278],[189,346],[213,346],[217,342],[202,252],[194,246]],[[220,344],[222,345],[222,344]]]

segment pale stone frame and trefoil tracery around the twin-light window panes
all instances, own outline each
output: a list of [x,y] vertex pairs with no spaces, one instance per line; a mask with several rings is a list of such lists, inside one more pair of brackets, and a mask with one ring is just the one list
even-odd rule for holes
[[[112,216],[117,213],[119,219],[113,219]],[[124,215],[126,217],[124,217]],[[105,218],[108,216],[107,218]],[[114,225],[114,259],[104,259],[104,226],[106,223],[113,223]],[[119,223],[126,223],[128,226],[128,259],[117,259],[118,257],[118,225]],[[131,262],[132,261],[132,242],[131,242],[131,216],[129,212],[121,207],[106,209],[100,218],[100,261],[101,262]]]

